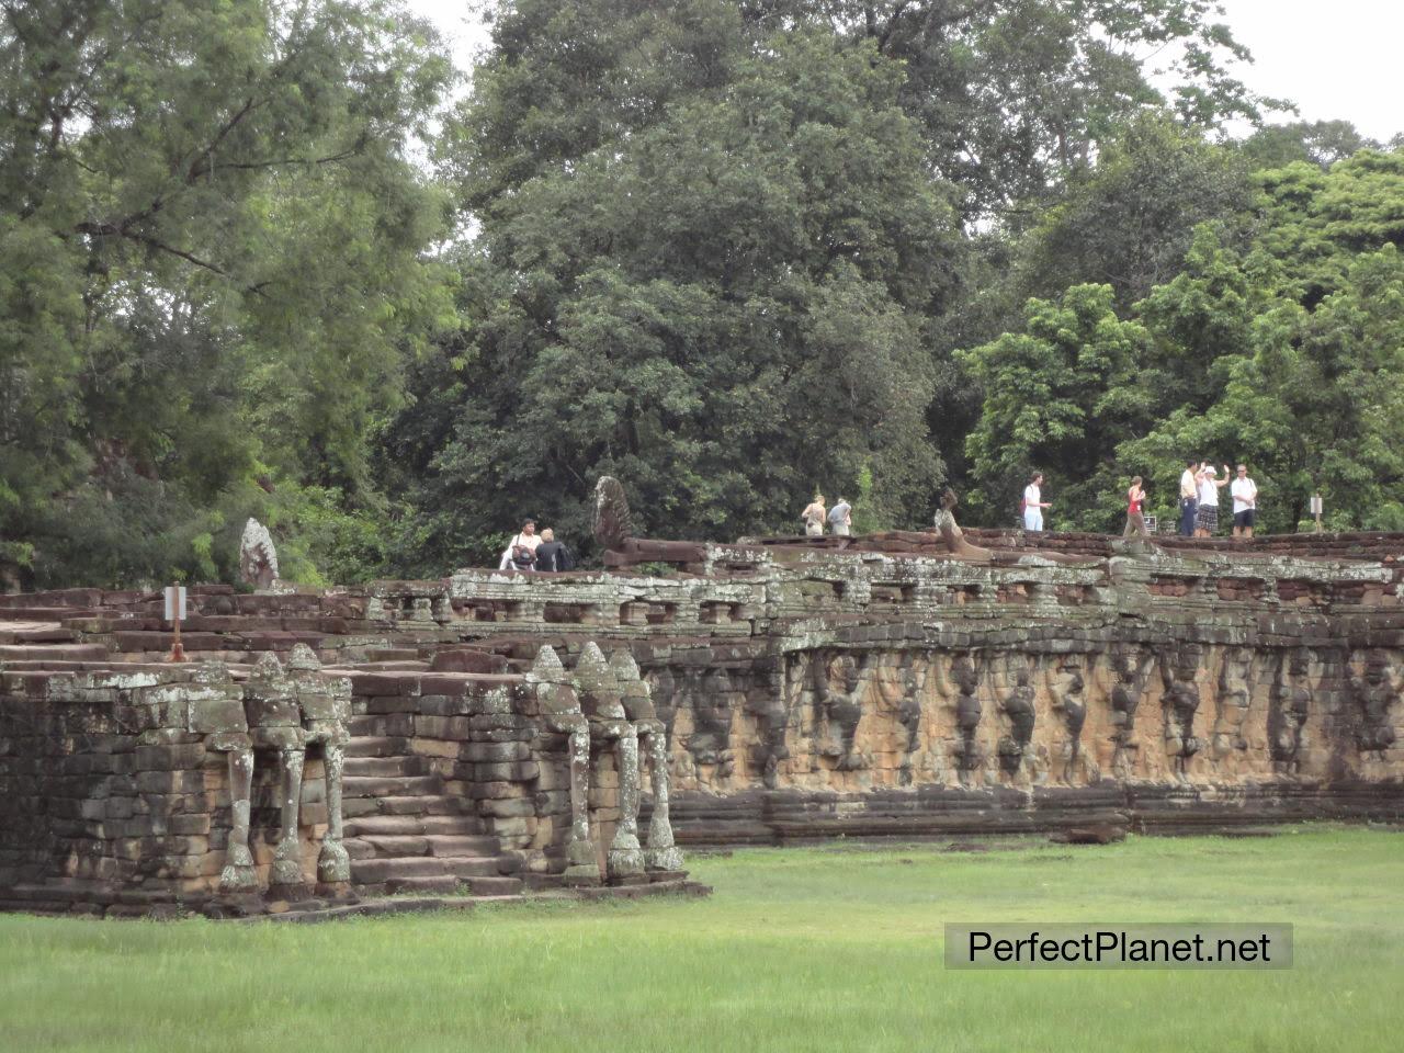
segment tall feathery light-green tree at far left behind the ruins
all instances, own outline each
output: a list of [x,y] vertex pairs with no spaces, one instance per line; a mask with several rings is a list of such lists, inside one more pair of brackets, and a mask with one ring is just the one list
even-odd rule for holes
[[380,0],[3,4],[11,564],[215,576],[250,511],[375,500],[366,428],[451,320],[406,157],[449,76]]

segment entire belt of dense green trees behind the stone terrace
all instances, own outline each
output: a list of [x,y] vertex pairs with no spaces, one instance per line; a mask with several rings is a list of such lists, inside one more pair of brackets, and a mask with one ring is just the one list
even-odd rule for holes
[[[497,0],[452,108],[396,0],[0,18],[0,574],[494,562],[535,515],[1116,528],[1247,461],[1404,525],[1404,154],[1212,0]],[[1148,56],[1165,76],[1150,79]],[[459,72],[459,73],[466,73]]]

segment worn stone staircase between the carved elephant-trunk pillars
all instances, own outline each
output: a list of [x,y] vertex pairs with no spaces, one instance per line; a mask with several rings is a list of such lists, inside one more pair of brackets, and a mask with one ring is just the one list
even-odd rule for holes
[[445,790],[432,760],[385,734],[386,717],[351,719],[341,810],[351,883],[365,896],[514,896],[518,856],[483,834],[473,802]]

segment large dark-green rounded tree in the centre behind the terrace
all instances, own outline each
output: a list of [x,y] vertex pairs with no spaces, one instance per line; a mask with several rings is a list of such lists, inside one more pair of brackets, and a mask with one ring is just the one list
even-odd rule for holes
[[[395,459],[430,477],[414,505],[441,510],[442,550],[484,514],[578,535],[600,473],[626,480],[663,534],[793,528],[816,486],[852,487],[865,468],[876,511],[925,515],[941,465],[921,326],[956,232],[897,104],[900,69],[823,31],[753,49],[734,6],[675,7],[640,20],[668,42],[701,27],[680,76],[715,69],[703,56],[724,76],[660,91],[647,124],[591,118],[570,160],[503,118],[528,70],[503,60],[475,79],[475,133],[451,139],[482,222],[472,341],[444,352],[463,383],[435,410],[444,371],[428,372],[395,428],[414,439]],[[514,24],[498,32],[519,39]],[[626,51],[664,46],[646,39]],[[529,51],[556,46],[535,35]],[[621,62],[583,76],[614,80]],[[498,188],[504,159],[538,174]],[[448,434],[425,437],[425,416]]]

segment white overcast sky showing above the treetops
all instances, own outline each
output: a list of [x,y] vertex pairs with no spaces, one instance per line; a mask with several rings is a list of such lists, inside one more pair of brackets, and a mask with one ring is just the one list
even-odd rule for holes
[[[459,66],[469,69],[487,44],[476,4],[407,3],[438,25]],[[1223,21],[1254,55],[1254,65],[1238,70],[1250,88],[1292,100],[1306,121],[1342,118],[1380,140],[1404,132],[1398,0],[1223,0]]]

